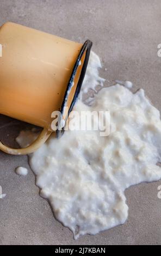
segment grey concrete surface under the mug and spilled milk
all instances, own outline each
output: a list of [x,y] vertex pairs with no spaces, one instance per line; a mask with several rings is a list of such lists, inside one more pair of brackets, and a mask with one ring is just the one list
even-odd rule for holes
[[[13,21],[71,40],[91,39],[107,69],[101,71],[109,80],[106,85],[131,80],[161,111],[160,13],[160,0],[0,0],[0,26]],[[1,139],[16,145],[14,138],[26,126],[1,116]],[[0,153],[0,185],[7,194],[0,199],[1,245],[161,244],[161,181],[126,191],[129,217],[124,225],[75,241],[39,196],[32,170],[20,177],[14,173],[17,166],[29,168],[27,156]]]

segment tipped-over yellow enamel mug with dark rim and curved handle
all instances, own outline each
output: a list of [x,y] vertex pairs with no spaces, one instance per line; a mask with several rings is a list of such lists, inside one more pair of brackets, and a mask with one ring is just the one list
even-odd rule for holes
[[[65,123],[82,86],[92,42],[79,44],[8,22],[0,28],[0,44],[0,113],[43,127],[27,148],[11,149],[0,142],[0,149],[29,154],[53,132],[53,111],[60,111],[59,123]],[[58,127],[60,137],[63,129]]]

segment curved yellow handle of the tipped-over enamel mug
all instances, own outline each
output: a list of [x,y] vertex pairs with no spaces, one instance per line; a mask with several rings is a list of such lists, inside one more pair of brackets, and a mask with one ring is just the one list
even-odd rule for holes
[[7,145],[4,145],[0,141],[0,150],[2,150],[4,153],[10,154],[10,155],[27,155],[30,153],[33,153],[36,149],[40,148],[42,144],[44,144],[48,137],[51,135],[52,131],[49,131],[48,129],[44,128],[38,138],[35,139],[35,141],[27,146],[26,148],[22,149],[13,149],[8,147]]

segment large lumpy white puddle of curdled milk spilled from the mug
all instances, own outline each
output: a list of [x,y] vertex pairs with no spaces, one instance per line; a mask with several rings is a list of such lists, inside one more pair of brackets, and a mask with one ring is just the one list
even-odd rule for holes
[[[91,54],[83,91],[102,86],[98,56]],[[96,234],[124,223],[128,206],[124,191],[131,185],[161,178],[161,121],[144,90],[133,94],[116,84],[95,95],[92,106],[78,100],[74,109],[110,111],[110,135],[100,131],[65,131],[51,136],[30,156],[41,196],[48,198],[57,220],[75,236]],[[31,133],[21,132],[24,146]],[[35,135],[34,135],[35,136]],[[26,140],[26,141],[25,141]]]

